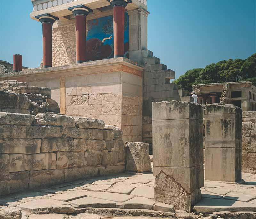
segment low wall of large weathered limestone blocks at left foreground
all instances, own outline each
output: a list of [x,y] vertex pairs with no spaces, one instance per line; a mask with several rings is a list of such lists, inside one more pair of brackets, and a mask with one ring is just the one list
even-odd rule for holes
[[123,172],[122,131],[61,114],[0,112],[0,195]]

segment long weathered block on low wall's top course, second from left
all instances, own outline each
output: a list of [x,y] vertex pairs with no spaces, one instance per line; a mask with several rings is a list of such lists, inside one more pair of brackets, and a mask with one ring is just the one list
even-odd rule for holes
[[39,113],[34,120],[35,125],[49,125],[62,127],[75,127],[75,120],[72,116]]

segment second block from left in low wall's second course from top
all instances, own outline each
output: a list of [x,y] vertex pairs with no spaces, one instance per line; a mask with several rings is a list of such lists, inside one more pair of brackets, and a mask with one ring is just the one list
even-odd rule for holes
[[[75,128],[70,128],[70,129],[75,129]],[[64,132],[64,130],[63,130],[63,132]],[[61,136],[62,136],[62,127],[27,126],[27,137],[28,138],[53,138],[53,137],[58,138]]]

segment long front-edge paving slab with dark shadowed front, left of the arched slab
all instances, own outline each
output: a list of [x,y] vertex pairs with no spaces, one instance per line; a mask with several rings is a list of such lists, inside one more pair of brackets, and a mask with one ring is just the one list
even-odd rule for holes
[[76,199],[73,201],[69,201],[69,204],[74,205],[76,208],[83,208],[83,207],[116,207],[116,202],[109,201],[105,199],[97,199],[93,197],[84,197],[81,199]]

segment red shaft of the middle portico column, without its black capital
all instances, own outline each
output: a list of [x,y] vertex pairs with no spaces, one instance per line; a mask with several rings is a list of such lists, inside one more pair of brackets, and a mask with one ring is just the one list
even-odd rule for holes
[[76,63],[85,62],[86,16],[76,15]]

